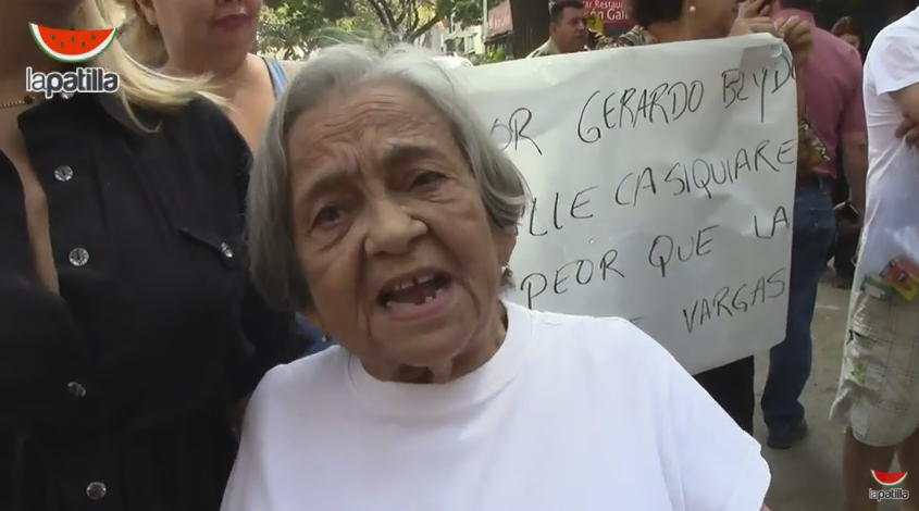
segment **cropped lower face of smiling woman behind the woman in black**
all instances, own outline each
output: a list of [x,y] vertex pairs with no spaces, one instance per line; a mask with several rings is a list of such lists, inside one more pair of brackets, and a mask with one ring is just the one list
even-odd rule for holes
[[160,29],[170,55],[249,52],[261,0],[137,0],[147,22]]

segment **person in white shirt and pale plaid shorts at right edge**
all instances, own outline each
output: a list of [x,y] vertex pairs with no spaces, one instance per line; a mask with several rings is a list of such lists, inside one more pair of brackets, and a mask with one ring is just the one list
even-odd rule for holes
[[[912,228],[892,223],[892,208],[902,208],[904,192],[910,195],[907,203],[919,201],[919,186],[903,186],[911,178],[919,184],[911,175],[919,174],[919,149],[901,139],[897,129],[904,116],[919,122],[919,9],[874,39],[865,63],[864,92],[869,140],[866,222],[831,411],[831,417],[846,426],[843,459],[849,511],[877,509],[879,498],[872,491],[882,487],[873,483],[871,471],[887,472],[895,453],[903,472],[919,474],[919,299],[884,287],[879,273],[883,269],[875,263],[887,259],[891,238]],[[903,259],[915,262],[919,244],[903,252]],[[917,483],[919,478],[908,477],[904,489],[919,495]],[[919,500],[905,500],[903,509],[919,509]]]

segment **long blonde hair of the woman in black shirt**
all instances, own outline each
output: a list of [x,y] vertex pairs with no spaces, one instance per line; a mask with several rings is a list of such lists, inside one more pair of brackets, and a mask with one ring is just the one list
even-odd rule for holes
[[[115,26],[119,9],[116,0],[85,0],[77,8],[74,28],[82,30],[112,28]],[[117,73],[119,99],[131,119],[144,130],[156,127],[144,126],[134,114],[133,105],[159,112],[175,112],[201,96],[221,107],[226,105],[223,98],[210,92],[208,77],[178,78],[159,73],[132,58],[117,38],[88,64]]]

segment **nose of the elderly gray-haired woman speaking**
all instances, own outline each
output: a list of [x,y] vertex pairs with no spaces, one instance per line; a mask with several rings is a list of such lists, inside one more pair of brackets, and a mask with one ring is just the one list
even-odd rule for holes
[[427,232],[424,222],[396,201],[378,201],[370,211],[367,252],[398,254],[409,251],[412,241]]

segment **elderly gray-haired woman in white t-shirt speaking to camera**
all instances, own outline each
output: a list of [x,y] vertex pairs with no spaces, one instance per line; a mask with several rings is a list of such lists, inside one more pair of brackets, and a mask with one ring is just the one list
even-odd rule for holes
[[501,300],[526,187],[433,60],[320,52],[261,147],[254,281],[340,347],[262,381],[224,511],[762,509],[759,445],[654,339]]

